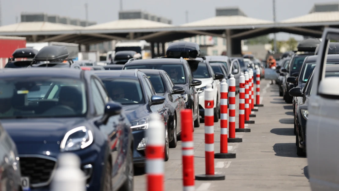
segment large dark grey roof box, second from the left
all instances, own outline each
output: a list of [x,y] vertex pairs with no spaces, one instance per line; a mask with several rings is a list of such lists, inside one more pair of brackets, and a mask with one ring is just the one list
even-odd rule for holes
[[57,61],[64,60],[69,56],[66,46],[45,46],[37,55],[35,55],[35,61]]

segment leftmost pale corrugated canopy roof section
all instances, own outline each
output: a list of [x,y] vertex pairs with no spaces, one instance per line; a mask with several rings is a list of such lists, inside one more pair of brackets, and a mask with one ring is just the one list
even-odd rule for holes
[[71,31],[83,29],[82,26],[51,23],[51,22],[20,22],[0,27],[0,32],[25,32],[25,31]]

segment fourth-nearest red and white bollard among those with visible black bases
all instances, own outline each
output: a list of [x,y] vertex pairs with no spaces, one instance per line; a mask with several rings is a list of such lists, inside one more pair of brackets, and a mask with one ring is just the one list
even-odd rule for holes
[[245,129],[245,76],[241,73],[239,80],[239,128],[235,132],[251,132]]

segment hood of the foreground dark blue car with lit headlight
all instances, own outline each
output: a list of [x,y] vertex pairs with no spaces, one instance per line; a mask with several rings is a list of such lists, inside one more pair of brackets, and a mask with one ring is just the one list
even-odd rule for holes
[[[61,141],[65,134],[83,126],[84,118],[2,119],[1,124],[16,144]],[[45,143],[45,144],[46,144]]]

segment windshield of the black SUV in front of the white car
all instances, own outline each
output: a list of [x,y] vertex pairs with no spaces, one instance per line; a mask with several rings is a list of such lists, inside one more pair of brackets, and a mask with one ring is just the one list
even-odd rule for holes
[[184,66],[182,64],[142,64],[142,65],[127,65],[125,70],[131,69],[154,69],[164,70],[171,77],[174,84],[185,84],[186,76]]

